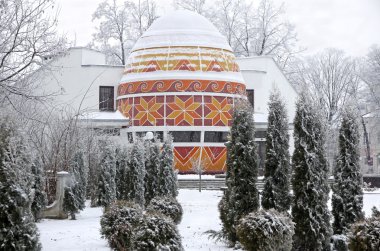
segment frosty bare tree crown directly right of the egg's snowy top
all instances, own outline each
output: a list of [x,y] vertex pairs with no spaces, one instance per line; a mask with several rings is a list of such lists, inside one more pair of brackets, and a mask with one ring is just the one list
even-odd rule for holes
[[297,48],[294,26],[285,19],[284,5],[261,0],[258,7],[249,0],[219,0],[208,17],[226,36],[237,56],[270,55],[287,70]]

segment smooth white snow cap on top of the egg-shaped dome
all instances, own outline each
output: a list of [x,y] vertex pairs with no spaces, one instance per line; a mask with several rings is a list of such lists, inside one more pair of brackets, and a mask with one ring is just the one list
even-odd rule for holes
[[158,18],[132,51],[162,46],[201,46],[232,51],[226,38],[210,21],[188,10],[172,11]]

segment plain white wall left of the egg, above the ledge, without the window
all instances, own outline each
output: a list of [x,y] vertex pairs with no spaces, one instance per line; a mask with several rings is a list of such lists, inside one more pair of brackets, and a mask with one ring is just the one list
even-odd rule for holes
[[86,48],[69,49],[51,66],[51,71],[42,80],[46,92],[59,94],[55,97],[57,105],[69,105],[75,110],[81,106],[84,111],[99,109],[99,86],[115,86],[116,98],[124,69],[123,66],[106,65],[102,53]]

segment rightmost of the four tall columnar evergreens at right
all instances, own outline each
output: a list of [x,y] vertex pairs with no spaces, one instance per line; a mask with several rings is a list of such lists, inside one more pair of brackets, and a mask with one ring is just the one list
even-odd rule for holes
[[346,234],[350,225],[363,218],[363,178],[359,165],[359,129],[354,114],[343,114],[339,130],[339,155],[334,170],[332,214],[335,234]]

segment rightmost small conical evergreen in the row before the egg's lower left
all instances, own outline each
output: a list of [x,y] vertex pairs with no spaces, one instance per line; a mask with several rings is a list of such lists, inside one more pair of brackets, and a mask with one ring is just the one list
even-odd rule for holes
[[178,195],[177,174],[174,171],[173,138],[168,135],[158,157],[158,189],[157,196]]

